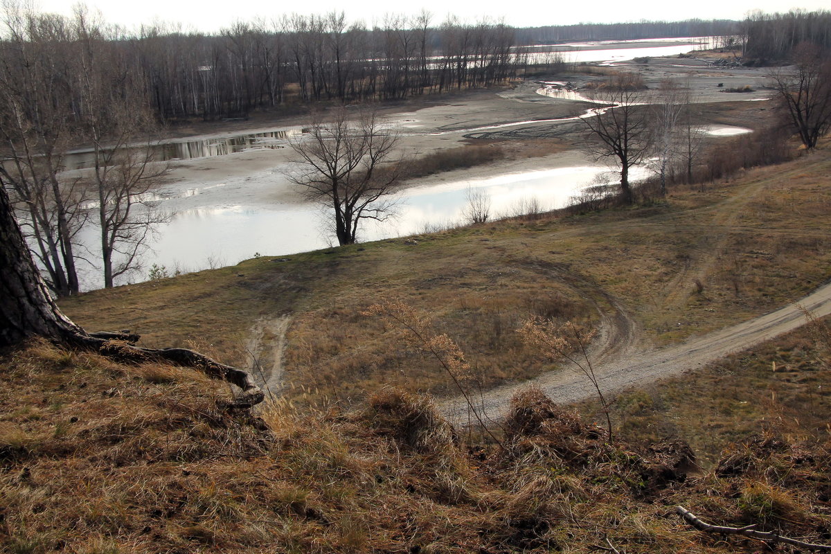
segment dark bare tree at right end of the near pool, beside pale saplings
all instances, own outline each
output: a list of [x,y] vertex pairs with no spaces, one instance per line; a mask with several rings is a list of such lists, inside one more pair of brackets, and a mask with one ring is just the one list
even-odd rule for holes
[[617,164],[622,199],[632,203],[629,170],[647,159],[652,143],[649,110],[642,105],[644,95],[627,86],[625,80],[616,79],[597,93],[598,100],[612,107],[598,109],[583,121],[588,127],[588,150],[597,160],[611,159]]

